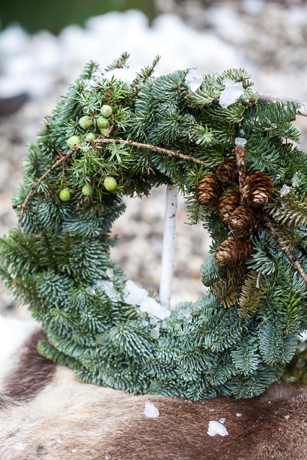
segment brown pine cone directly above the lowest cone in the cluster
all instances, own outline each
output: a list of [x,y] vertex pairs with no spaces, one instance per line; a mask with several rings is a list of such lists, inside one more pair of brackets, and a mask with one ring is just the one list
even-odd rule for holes
[[228,226],[240,236],[251,235],[264,221],[264,213],[261,210],[251,208],[248,204],[241,204],[231,214]]

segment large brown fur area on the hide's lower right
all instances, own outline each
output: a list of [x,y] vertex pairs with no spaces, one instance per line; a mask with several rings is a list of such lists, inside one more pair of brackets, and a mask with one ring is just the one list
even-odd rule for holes
[[[160,417],[141,418],[123,427],[108,445],[111,458],[125,458],[127,452],[131,459],[148,460],[307,458],[306,389],[277,384],[266,395],[245,401],[227,397],[204,404],[170,398],[150,401]],[[229,435],[209,436],[209,421],[223,417]]]

